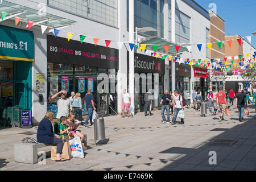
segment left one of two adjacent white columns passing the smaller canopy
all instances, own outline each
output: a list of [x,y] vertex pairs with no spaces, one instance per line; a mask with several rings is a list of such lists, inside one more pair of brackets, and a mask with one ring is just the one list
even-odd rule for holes
[[[169,40],[169,4],[168,0],[164,0],[164,39]],[[172,61],[172,60],[170,60]],[[165,61],[165,71],[164,71],[164,90],[169,90],[169,61]],[[169,90],[170,91],[170,90]]]

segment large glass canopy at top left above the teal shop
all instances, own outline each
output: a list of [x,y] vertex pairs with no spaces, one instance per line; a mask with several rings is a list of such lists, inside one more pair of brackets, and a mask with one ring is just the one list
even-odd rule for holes
[[[27,20],[30,20],[31,22],[34,22],[34,26],[43,25],[47,26],[48,28],[62,28],[76,23],[70,19],[61,18],[60,16],[44,13],[42,11],[7,1],[2,1],[2,4],[0,4],[0,12],[5,12],[8,14],[5,16],[3,21],[6,19],[14,20],[14,17],[18,16],[19,18],[22,18],[20,20],[21,22],[27,22]],[[0,19],[0,22],[2,22],[2,19]]]

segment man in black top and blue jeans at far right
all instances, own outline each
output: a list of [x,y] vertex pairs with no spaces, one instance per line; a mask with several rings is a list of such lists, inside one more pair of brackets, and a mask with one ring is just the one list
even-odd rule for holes
[[238,89],[235,108],[238,108],[238,117],[240,122],[243,122],[243,113],[245,112],[245,107],[247,107],[245,93],[242,93],[242,90]]

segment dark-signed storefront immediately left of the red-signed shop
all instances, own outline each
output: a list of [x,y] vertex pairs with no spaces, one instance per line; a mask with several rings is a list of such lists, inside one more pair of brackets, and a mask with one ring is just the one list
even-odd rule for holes
[[175,89],[183,94],[190,92],[191,66],[175,63]]

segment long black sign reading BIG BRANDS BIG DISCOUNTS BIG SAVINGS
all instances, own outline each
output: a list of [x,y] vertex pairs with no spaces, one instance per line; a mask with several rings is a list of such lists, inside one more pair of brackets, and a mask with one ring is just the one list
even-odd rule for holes
[[118,69],[118,49],[47,35],[47,61]]

